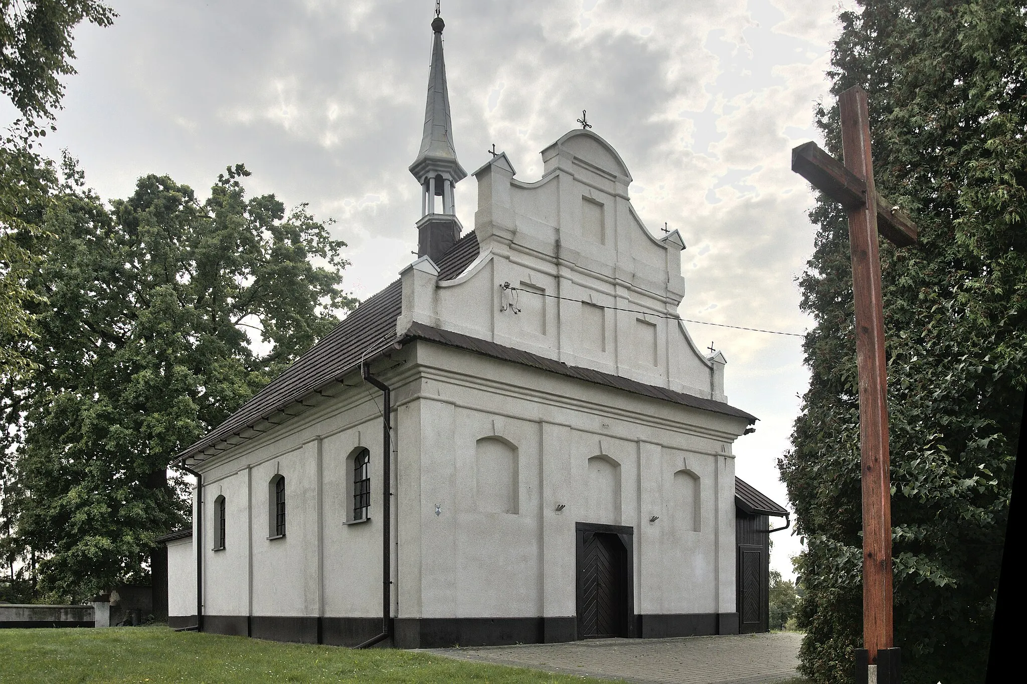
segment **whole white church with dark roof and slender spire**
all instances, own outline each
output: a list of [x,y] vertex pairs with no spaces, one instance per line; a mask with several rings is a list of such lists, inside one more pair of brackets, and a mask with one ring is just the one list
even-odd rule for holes
[[654,237],[586,128],[457,160],[434,45],[418,258],[183,451],[172,627],[403,648],[765,631],[768,517],[734,475],[756,418],[677,314]]

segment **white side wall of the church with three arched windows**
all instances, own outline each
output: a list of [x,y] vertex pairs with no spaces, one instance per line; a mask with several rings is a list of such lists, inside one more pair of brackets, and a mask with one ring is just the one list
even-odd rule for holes
[[[197,467],[205,614],[381,615],[382,418],[372,397],[349,391]],[[346,458],[360,447],[371,454],[370,519],[346,524]],[[275,475],[286,478],[281,538],[269,538]],[[226,544],[214,551],[219,495]]]

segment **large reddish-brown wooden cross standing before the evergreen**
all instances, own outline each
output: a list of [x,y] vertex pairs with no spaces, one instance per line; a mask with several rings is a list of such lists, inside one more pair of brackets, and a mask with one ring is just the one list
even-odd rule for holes
[[[860,376],[860,452],[863,480],[863,668],[880,684],[898,682],[899,652],[891,628],[891,484],[884,311],[878,231],[900,247],[916,242],[916,227],[874,188],[867,92],[852,87],[838,98],[844,163],[815,143],[792,150],[792,170],[848,211],[855,300],[855,359]],[[862,670],[862,673],[861,673]],[[866,682],[867,675],[858,674]],[[869,673],[868,673],[869,674]]]

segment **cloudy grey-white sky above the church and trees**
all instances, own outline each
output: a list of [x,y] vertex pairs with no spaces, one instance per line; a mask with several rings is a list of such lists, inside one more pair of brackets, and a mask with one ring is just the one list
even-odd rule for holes
[[[58,133],[104,197],[167,173],[201,197],[243,162],[252,193],[309,202],[348,244],[364,297],[416,249],[433,0],[109,0],[113,27],[76,33]],[[819,139],[812,110],[837,0],[445,0],[457,153],[496,145],[525,180],[581,110],[624,159],[649,230],[687,244],[683,318],[803,332],[795,282],[812,251],[808,186],[790,150]],[[0,107],[3,120],[14,118]],[[472,178],[456,188],[473,226]],[[800,338],[688,324],[727,358],[729,401],[760,417],[736,470],[785,504],[776,458],[805,391]],[[798,539],[773,535],[791,575]]]

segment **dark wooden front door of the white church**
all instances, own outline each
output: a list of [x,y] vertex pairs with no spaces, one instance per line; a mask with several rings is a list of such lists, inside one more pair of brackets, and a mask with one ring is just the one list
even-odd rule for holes
[[578,639],[633,636],[632,535],[582,527],[612,526],[578,524]]

